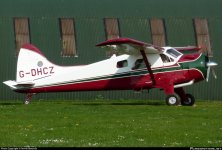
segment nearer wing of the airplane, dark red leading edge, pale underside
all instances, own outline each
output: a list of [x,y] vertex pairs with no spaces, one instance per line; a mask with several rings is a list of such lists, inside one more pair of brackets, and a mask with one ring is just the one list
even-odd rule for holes
[[162,50],[161,47],[130,38],[115,38],[99,43],[96,46],[108,47],[118,53],[129,55],[140,54],[140,50],[144,50],[146,54],[160,53]]

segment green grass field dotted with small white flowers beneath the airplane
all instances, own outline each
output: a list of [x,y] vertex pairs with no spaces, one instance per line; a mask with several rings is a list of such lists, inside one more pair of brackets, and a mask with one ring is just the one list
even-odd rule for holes
[[221,147],[222,101],[1,101],[0,135],[0,147]]

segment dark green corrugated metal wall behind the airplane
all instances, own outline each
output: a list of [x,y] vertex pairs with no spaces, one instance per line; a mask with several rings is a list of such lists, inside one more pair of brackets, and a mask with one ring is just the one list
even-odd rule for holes
[[[152,42],[150,19],[161,18],[166,29],[166,44],[171,46],[195,45],[194,18],[208,20],[213,60],[218,79],[210,78],[187,87],[198,99],[222,99],[222,1],[221,0],[0,0],[0,81],[15,79],[16,45],[14,17],[29,18],[31,43],[41,49],[47,58],[59,65],[88,64],[106,58],[104,50],[95,44],[106,39],[104,18],[118,18],[120,35]],[[60,18],[73,18],[78,57],[62,57]],[[212,76],[211,76],[212,77]],[[133,91],[70,92],[39,94],[35,99],[159,99],[163,92],[148,94]],[[0,99],[23,99],[0,84]]]

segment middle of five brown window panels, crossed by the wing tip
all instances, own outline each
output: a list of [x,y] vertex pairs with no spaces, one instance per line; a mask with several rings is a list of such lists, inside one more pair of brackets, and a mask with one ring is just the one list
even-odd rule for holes
[[[107,40],[120,37],[119,20],[117,18],[105,18],[104,25]],[[114,51],[111,50],[106,52],[107,57],[110,57],[113,54]]]

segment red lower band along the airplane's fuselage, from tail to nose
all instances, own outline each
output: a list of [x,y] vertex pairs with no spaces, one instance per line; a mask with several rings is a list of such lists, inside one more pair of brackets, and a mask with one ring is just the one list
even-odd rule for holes
[[[164,86],[170,82],[181,84],[195,79],[195,82],[204,79],[198,69],[173,70],[169,72],[154,73],[157,85]],[[62,85],[46,86],[26,90],[16,90],[21,93],[43,93],[43,92],[69,92],[69,91],[101,91],[101,90],[139,90],[151,89],[152,81],[149,74],[139,76],[128,76],[115,79],[101,79],[80,83],[68,83]]]

